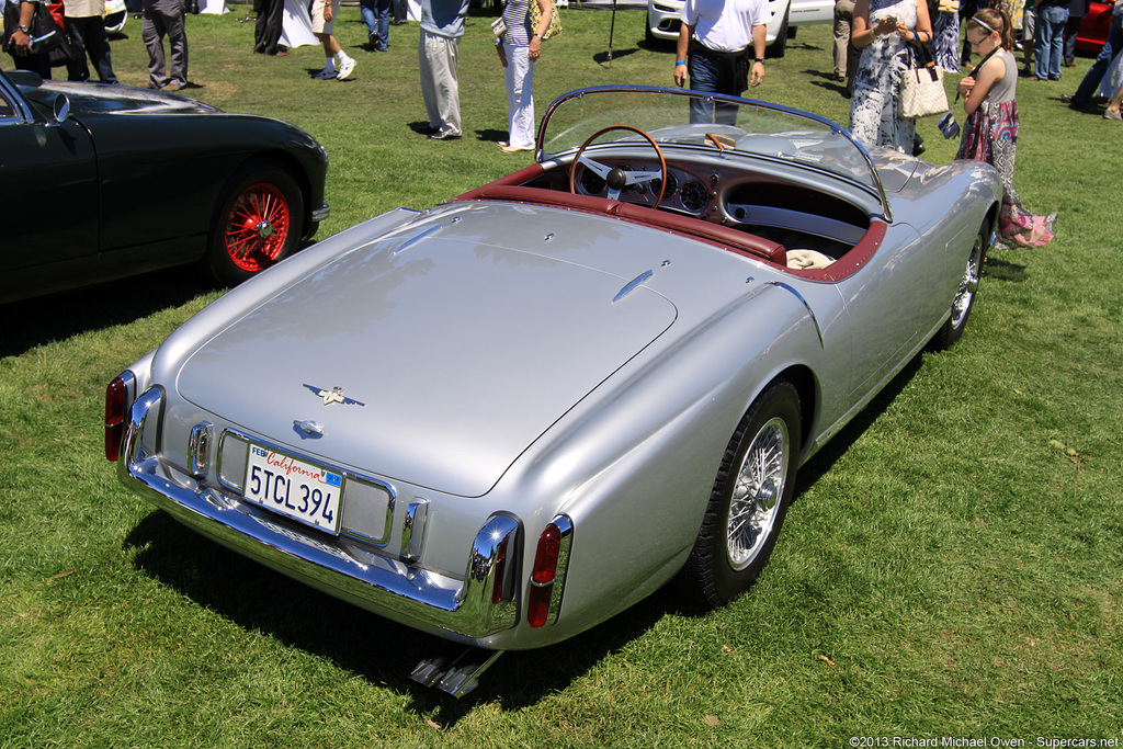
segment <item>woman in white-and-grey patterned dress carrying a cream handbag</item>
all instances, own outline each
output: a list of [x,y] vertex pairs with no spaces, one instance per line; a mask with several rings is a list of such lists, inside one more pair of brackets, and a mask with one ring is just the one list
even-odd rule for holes
[[932,42],[926,0],[858,0],[850,43],[861,49],[850,98],[850,131],[866,148],[913,152],[916,122],[901,113],[911,46]]

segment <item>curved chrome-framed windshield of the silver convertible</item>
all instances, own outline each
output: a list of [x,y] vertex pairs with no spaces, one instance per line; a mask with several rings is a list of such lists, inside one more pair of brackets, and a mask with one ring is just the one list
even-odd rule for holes
[[[601,86],[567,93],[542,118],[539,161],[575,150],[597,131],[618,125],[639,128],[660,146],[740,153],[828,172],[869,190],[887,209],[869,155],[840,126],[777,104],[696,91]],[[621,129],[596,143],[641,139]]]

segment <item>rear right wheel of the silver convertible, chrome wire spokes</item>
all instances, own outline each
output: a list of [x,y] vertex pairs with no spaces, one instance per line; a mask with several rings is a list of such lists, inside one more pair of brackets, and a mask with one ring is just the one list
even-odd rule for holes
[[[795,488],[801,424],[800,394],[785,381],[765,389],[738,424],[679,575],[681,590],[696,605],[729,603],[768,564]],[[736,515],[749,513],[752,522],[734,524]]]

